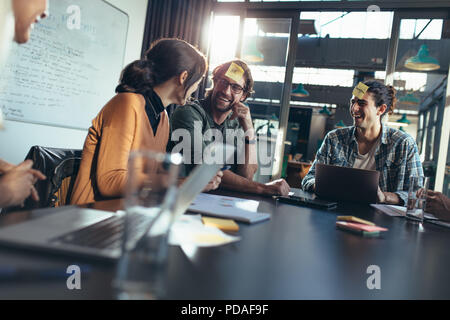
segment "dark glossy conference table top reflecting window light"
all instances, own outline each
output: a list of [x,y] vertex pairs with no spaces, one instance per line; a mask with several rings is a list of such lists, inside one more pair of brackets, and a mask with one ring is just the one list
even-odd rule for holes
[[[233,192],[219,194],[237,196]],[[242,196],[242,194],[239,194]],[[334,211],[260,201],[269,221],[239,224],[241,240],[198,249],[188,258],[169,249],[169,299],[449,299],[450,229],[389,217],[369,206],[343,204]],[[120,200],[90,207],[117,210]],[[30,219],[18,212],[0,218],[0,226]],[[354,215],[389,228],[380,238],[364,238],[336,229],[337,215]],[[0,265],[58,269],[78,264],[81,290],[68,290],[66,278],[0,281],[0,299],[113,299],[111,263],[0,247]],[[367,268],[381,271],[381,289],[369,290]],[[83,270],[83,267],[82,267]]]

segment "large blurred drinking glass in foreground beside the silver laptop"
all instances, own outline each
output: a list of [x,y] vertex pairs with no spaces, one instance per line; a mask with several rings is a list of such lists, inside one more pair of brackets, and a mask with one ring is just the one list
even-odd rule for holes
[[122,256],[113,286],[118,299],[164,299],[168,236],[182,157],[132,152],[128,162]]

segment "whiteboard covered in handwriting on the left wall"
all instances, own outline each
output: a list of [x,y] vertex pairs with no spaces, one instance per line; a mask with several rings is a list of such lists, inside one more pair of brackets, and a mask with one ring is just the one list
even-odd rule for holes
[[8,120],[87,129],[115,94],[128,15],[102,0],[50,0],[49,11],[13,46],[0,107]]

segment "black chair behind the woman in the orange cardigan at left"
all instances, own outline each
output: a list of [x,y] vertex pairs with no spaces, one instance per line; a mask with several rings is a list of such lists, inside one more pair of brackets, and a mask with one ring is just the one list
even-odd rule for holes
[[25,160],[33,160],[33,168],[47,176],[46,180],[39,180],[35,184],[39,201],[28,198],[23,207],[11,207],[5,211],[58,207],[69,204],[80,167],[81,151],[41,146],[31,147]]

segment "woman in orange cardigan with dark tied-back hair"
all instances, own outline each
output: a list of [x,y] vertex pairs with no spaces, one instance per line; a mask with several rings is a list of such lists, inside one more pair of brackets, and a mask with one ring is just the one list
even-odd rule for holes
[[183,40],[161,39],[145,56],[125,67],[117,94],[92,121],[73,204],[121,196],[132,150],[166,152],[169,119],[165,108],[184,105],[207,69],[205,56]]

